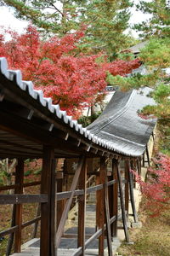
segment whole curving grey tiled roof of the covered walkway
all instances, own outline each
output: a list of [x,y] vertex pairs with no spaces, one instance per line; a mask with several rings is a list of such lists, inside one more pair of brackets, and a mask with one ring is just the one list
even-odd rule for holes
[[[145,105],[154,103],[147,96],[150,91],[148,88],[129,92],[116,91],[104,112],[87,128],[83,128],[77,120],[60,110],[59,105],[54,105],[51,98],[44,97],[42,90],[34,90],[31,82],[23,81],[20,70],[8,70],[5,58],[0,58],[0,90],[6,95],[7,102],[33,108],[38,113],[38,119],[51,122],[51,130],[48,131],[53,130],[52,135],[55,128],[59,130],[59,125],[64,125],[68,133],[76,134],[77,140],[82,140],[89,148],[97,145],[104,151],[138,157],[144,153],[156,124],[155,119],[141,119],[137,113]],[[19,100],[10,95],[19,95]],[[59,125],[55,127],[55,124]]]

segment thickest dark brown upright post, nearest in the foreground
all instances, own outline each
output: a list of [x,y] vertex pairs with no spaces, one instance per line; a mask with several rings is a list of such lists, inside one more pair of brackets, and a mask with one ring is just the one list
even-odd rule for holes
[[41,194],[48,195],[48,203],[41,204],[40,255],[54,256],[55,236],[55,160],[54,148],[43,147]]

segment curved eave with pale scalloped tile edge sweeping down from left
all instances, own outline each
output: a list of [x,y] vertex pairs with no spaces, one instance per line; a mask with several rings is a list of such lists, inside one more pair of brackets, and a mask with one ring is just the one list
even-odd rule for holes
[[[123,149],[116,145],[114,140],[94,135],[88,128],[83,128],[82,125],[77,123],[77,120],[72,119],[65,111],[60,110],[59,105],[54,105],[51,98],[44,97],[42,90],[34,90],[31,82],[23,81],[20,70],[8,70],[8,63],[5,58],[0,58],[0,74],[2,97],[4,94],[14,99],[17,95],[17,102],[21,105],[32,109],[38,117],[46,120],[50,125],[54,125],[58,130],[65,131],[73,139],[76,138],[79,142],[77,147],[82,143],[83,146],[87,146],[86,151],[94,148],[95,152],[101,150],[108,154],[121,154],[132,157],[138,157],[144,151],[144,148],[138,152],[135,150],[128,151],[128,148],[124,147]],[[6,81],[9,82],[8,86],[6,86]]]

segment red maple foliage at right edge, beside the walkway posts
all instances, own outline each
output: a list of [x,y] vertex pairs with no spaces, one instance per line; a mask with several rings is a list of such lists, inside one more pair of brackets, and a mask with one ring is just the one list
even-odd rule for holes
[[155,167],[149,168],[150,178],[146,182],[132,171],[146,199],[145,209],[152,217],[159,215],[170,204],[170,157],[159,154],[153,161]]

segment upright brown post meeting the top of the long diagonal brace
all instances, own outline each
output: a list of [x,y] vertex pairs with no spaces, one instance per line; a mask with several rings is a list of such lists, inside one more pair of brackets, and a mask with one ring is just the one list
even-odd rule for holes
[[82,166],[82,173],[79,178],[79,189],[84,190],[84,195],[78,201],[78,239],[77,247],[82,247],[81,255],[85,255],[85,218],[86,218],[86,181],[87,181],[87,160]]

